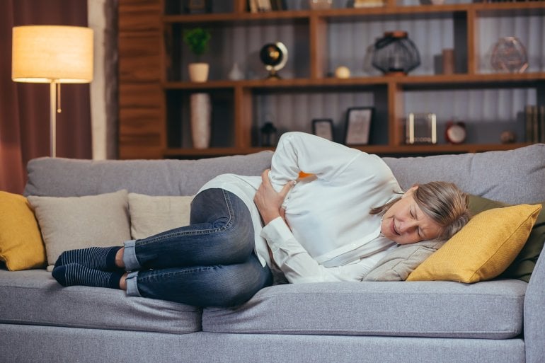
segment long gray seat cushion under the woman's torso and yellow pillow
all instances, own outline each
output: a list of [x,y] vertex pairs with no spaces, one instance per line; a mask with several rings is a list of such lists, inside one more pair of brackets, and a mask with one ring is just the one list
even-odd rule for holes
[[326,282],[268,287],[243,306],[207,308],[213,333],[513,338],[527,283]]

